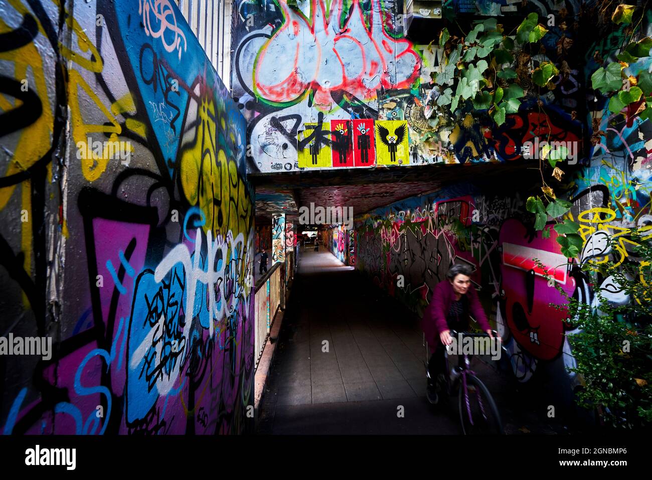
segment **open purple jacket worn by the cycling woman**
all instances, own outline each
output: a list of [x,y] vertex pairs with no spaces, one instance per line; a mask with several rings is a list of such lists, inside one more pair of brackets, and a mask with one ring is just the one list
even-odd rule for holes
[[[465,295],[469,299],[469,310],[476,322],[480,324],[482,331],[491,328],[489,321],[484,314],[484,309],[478,299],[478,294],[475,292],[473,285],[469,286]],[[451,303],[455,300],[455,293],[452,289],[451,282],[443,280],[437,284],[434,292],[432,293],[432,300],[430,305],[426,308],[421,319],[423,333],[426,335],[426,341],[431,350],[437,346],[439,342],[439,333],[448,330],[446,317],[451,309]]]

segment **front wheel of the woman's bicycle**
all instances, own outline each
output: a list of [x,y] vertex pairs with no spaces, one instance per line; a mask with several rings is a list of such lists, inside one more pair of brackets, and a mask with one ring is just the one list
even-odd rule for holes
[[500,419],[500,413],[487,387],[479,378],[473,375],[466,376],[466,386],[468,408],[464,398],[464,384],[460,380],[458,404],[464,434],[502,435],[503,423]]

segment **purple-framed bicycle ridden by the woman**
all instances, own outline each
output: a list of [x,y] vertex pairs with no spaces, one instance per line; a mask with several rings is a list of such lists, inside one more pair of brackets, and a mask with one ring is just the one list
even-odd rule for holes
[[[488,337],[486,333],[461,332],[461,335],[462,337],[460,338],[460,333],[451,330],[451,336],[454,338]],[[492,331],[492,335],[497,337],[497,332]],[[423,343],[426,347],[426,378],[428,378],[429,350],[428,342],[425,341],[425,337]],[[503,351],[507,351],[505,347],[501,346],[501,348]],[[457,393],[460,423],[462,423],[462,432],[464,432],[465,435],[502,435],[504,433],[503,423],[496,402],[489,392],[489,389],[476,376],[475,372],[471,370],[471,361],[468,355],[466,355],[466,353],[458,355],[458,365],[453,368],[449,367],[448,356],[448,352],[445,351],[445,371],[449,372],[449,374],[439,374],[439,377],[436,379],[436,390],[439,392],[439,395],[437,395],[437,397],[439,397],[437,403],[441,404],[442,396],[448,398],[454,393]],[[475,395],[473,395],[474,393]],[[428,400],[430,400],[430,398],[428,398]]]

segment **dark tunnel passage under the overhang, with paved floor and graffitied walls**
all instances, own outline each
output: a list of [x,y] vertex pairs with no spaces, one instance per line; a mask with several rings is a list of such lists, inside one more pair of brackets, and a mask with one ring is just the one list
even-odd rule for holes
[[[271,265],[293,265],[284,271],[291,295],[276,314],[282,325],[272,325],[278,333],[265,347],[273,363],[259,385],[259,432],[458,433],[454,417],[426,399],[430,353],[420,322],[456,263],[471,267],[507,349],[499,361],[473,359],[505,431],[586,427],[578,419],[590,421],[587,414],[572,404],[578,382],[565,369],[569,348],[556,330],[565,318],[548,307],[556,298],[547,280],[531,282],[522,263],[535,248],[544,262],[563,263],[554,236],[537,241],[524,209],[539,171],[451,167],[253,177],[257,251],[270,252]],[[258,276],[257,297],[274,272]],[[585,287],[574,278],[561,282],[569,293]],[[553,422],[551,404],[559,406]],[[397,408],[408,409],[407,421]]]

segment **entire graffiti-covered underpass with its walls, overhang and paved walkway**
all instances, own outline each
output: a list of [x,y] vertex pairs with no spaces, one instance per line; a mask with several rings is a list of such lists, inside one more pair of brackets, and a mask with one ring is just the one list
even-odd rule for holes
[[0,0],[0,432],[459,432],[421,324],[454,265],[502,339],[471,367],[506,432],[615,415],[578,407],[585,331],[552,305],[652,282],[651,20]]

